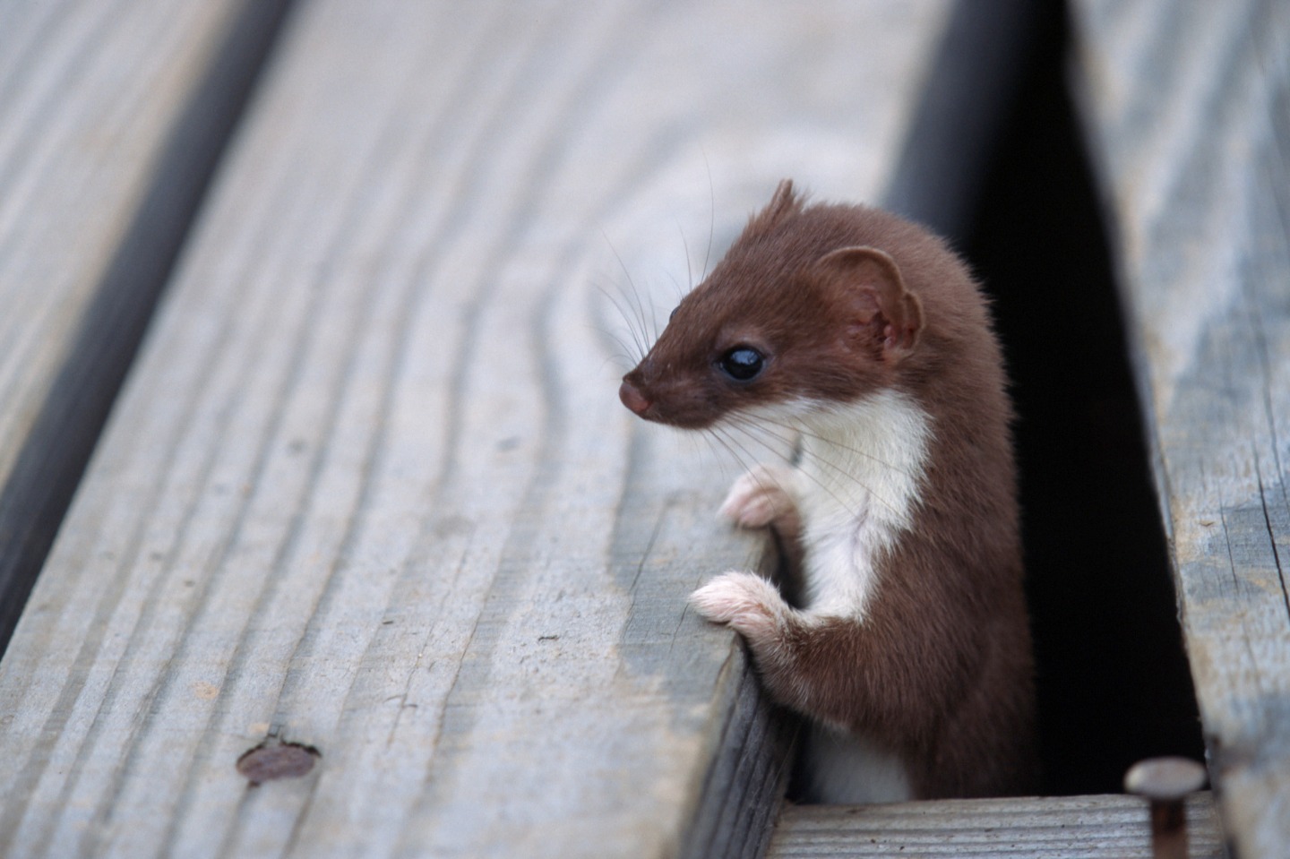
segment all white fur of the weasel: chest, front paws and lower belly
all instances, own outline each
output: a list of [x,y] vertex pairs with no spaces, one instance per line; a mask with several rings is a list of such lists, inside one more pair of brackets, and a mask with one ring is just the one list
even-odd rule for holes
[[[703,617],[739,629],[755,654],[774,659],[774,629],[792,614],[808,626],[823,618],[864,622],[880,586],[881,555],[913,525],[931,419],[894,391],[845,406],[793,402],[748,415],[749,424],[759,419],[801,431],[801,459],[796,468],[759,467],[740,477],[722,512],[739,525],[760,528],[795,508],[806,605],[796,611],[774,586],[739,571],[712,579],[690,598]],[[904,762],[863,733],[817,721],[804,753],[815,800],[893,802],[912,796]]]

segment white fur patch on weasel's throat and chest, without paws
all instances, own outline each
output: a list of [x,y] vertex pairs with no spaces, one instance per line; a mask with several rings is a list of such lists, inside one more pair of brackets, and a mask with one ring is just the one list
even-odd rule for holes
[[877,557],[912,525],[930,418],[912,399],[889,390],[844,406],[813,408],[799,424],[806,610],[862,619]]

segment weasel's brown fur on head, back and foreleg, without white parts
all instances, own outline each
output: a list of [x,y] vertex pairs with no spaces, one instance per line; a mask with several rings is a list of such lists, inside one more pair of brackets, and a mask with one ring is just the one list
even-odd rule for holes
[[[765,356],[751,382],[716,366],[739,346]],[[773,617],[748,629],[769,632],[746,637],[775,699],[897,749],[917,797],[1029,791],[1011,411],[986,301],[939,239],[875,209],[806,206],[786,181],[682,299],[622,399],[646,419],[704,428],[884,388],[926,411],[931,439],[913,526],[876,558],[863,620],[766,606]],[[782,515],[784,530],[795,516]]]

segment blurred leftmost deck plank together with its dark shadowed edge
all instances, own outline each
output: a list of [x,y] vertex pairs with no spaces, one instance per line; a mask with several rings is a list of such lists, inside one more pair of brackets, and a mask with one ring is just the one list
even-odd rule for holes
[[0,4],[0,650],[283,5]]

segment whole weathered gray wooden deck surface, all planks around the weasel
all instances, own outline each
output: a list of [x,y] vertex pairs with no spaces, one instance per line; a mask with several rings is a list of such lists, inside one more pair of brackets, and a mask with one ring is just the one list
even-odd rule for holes
[[[685,610],[760,546],[730,462],[618,405],[614,333],[782,177],[906,200],[953,4],[284,8],[0,4],[0,855],[761,855],[791,729]],[[1282,855],[1290,31],[1189,8],[1081,0],[1076,80],[1219,828]],[[266,742],[317,757],[252,787]]]

